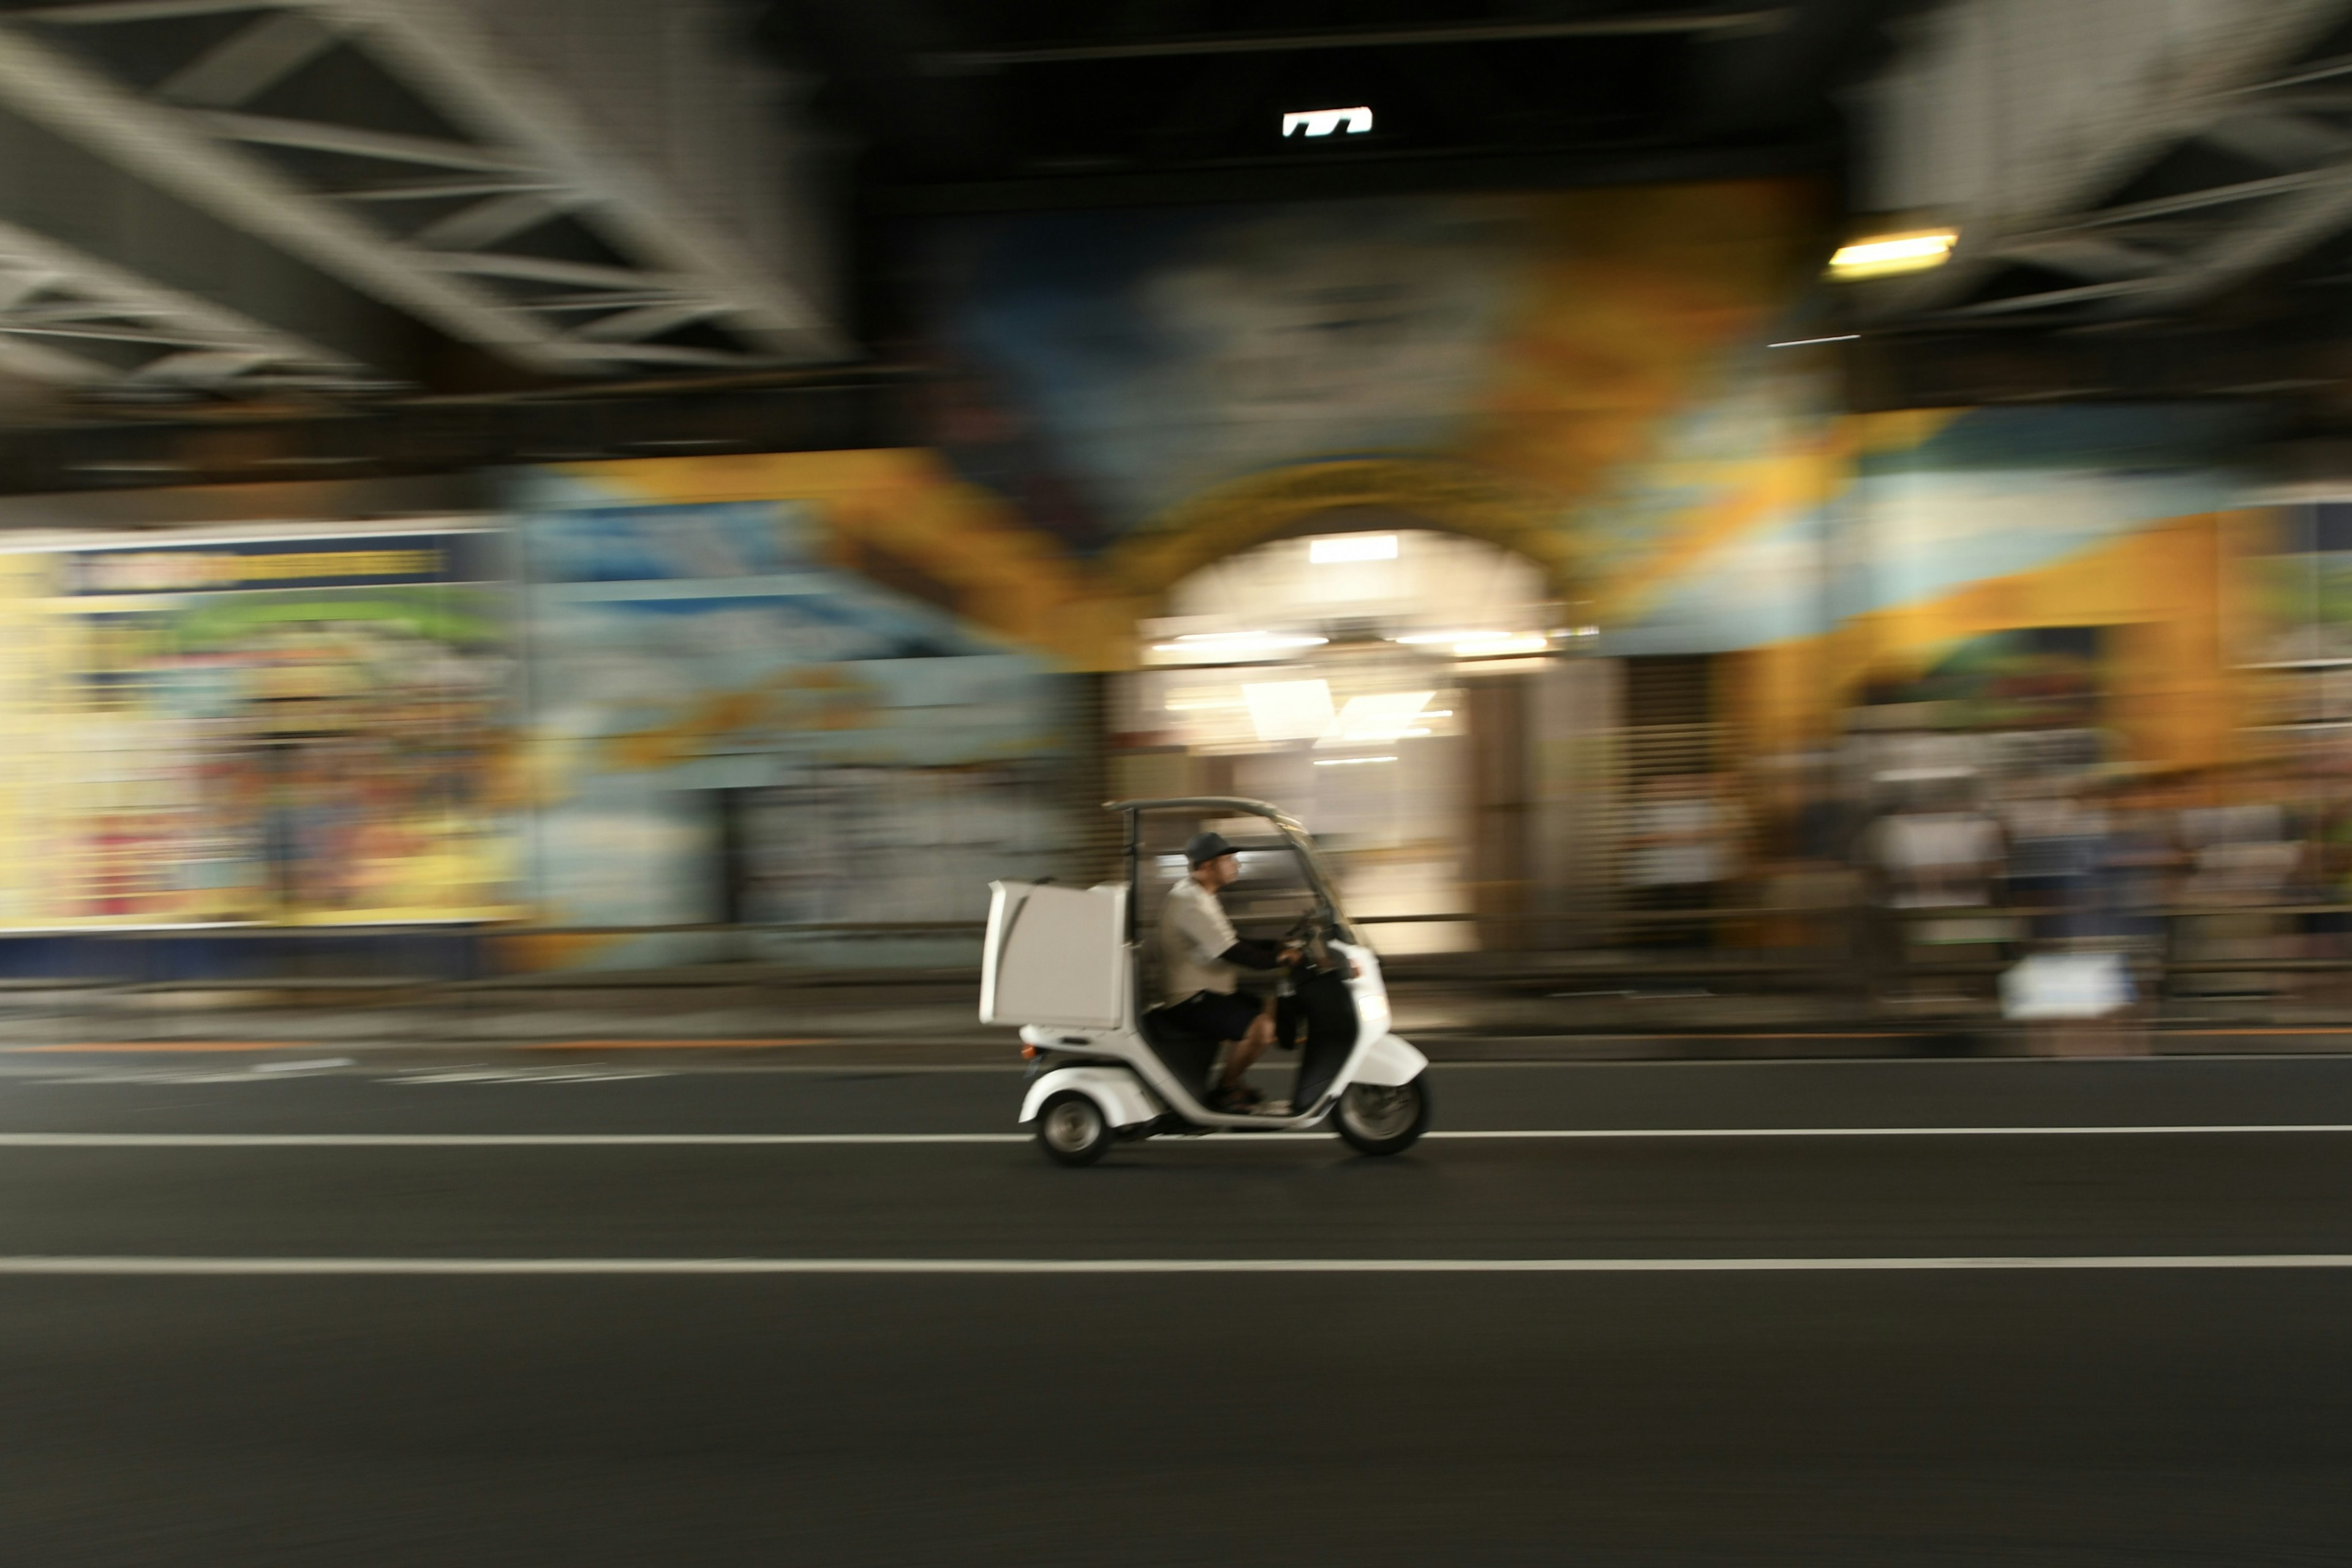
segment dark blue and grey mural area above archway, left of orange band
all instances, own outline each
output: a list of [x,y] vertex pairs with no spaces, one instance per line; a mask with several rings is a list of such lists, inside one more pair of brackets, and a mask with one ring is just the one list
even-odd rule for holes
[[934,230],[941,447],[1080,548],[1270,465],[1439,451],[1522,303],[1517,197],[971,219]]

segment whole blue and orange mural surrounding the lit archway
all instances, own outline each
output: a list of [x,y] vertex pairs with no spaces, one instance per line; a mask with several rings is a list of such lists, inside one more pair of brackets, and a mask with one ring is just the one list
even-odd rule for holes
[[[550,914],[962,910],[974,867],[1051,856],[1058,677],[1131,668],[1178,581],[1301,529],[1498,543],[1585,651],[1719,656],[1757,752],[1931,677],[2009,724],[2063,675],[2126,755],[2225,755],[2244,430],[1844,416],[1835,357],[1773,348],[1818,214],[1750,181],[922,228],[929,449],[529,480]],[[727,835],[795,849],[720,886]]]

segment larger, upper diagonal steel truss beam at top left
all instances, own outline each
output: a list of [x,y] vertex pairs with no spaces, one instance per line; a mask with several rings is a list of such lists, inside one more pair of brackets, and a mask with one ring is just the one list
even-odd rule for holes
[[[111,63],[111,47],[122,52],[111,38],[118,24],[228,12],[252,19],[191,45],[160,75],[153,61],[139,73]],[[40,28],[71,28],[78,49],[54,47]],[[141,47],[153,49],[153,35]],[[409,101],[360,92],[318,110],[318,94],[296,94],[301,113],[287,113],[287,99],[270,96],[334,52],[355,52]],[[849,353],[809,299],[612,153],[583,106],[510,66],[447,0],[92,0],[0,12],[0,101],[534,371],[755,369]],[[416,103],[447,134],[419,127]],[[463,205],[449,209],[452,197]],[[550,242],[548,226],[569,237]],[[560,301],[541,299],[557,289]]]

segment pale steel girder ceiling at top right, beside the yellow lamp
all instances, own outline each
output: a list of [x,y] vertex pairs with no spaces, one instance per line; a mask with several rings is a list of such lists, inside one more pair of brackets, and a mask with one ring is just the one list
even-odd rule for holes
[[2352,423],[2352,2],[1957,0],[1867,96],[1860,205],[1959,244],[1851,289],[1863,407],[2239,395]]

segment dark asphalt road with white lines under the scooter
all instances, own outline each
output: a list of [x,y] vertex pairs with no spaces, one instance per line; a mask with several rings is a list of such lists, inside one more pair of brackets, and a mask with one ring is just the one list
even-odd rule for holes
[[287,1067],[0,1074],[0,1561],[2352,1556],[2352,1060]]

